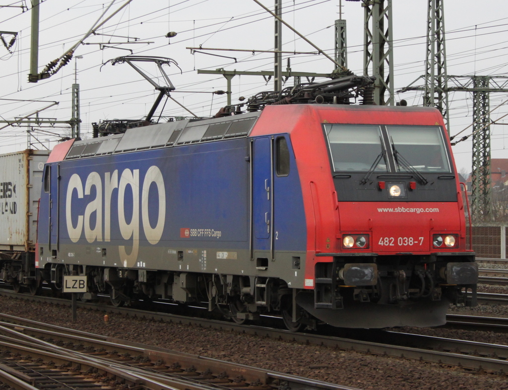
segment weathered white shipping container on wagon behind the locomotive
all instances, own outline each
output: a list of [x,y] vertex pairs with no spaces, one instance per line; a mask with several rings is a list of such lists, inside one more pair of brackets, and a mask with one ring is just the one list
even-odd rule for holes
[[0,155],[0,251],[34,251],[42,173],[49,151]]

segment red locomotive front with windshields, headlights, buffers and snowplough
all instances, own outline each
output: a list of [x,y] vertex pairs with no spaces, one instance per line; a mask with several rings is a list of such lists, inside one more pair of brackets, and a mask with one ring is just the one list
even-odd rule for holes
[[283,118],[296,118],[290,126],[307,222],[305,288],[313,290],[296,302],[345,327],[434,326],[444,323],[450,303],[474,305],[478,266],[439,112],[287,110]]

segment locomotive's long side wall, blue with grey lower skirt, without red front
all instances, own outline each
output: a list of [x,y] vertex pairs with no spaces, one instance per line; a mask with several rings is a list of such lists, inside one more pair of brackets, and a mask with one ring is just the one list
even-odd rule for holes
[[[172,124],[153,128],[166,143],[178,131]],[[303,288],[306,222],[288,134],[277,136],[288,146],[289,164],[278,175],[273,136],[244,132],[171,145],[140,140],[148,147],[125,149],[142,131],[62,145],[62,157],[49,159],[39,214],[43,279],[60,288],[64,275],[87,275],[85,296],[109,292],[124,301],[129,280],[146,295],[183,302],[203,299],[197,286],[210,275],[235,275],[231,284],[253,295],[256,278],[281,274]],[[240,282],[242,275],[247,280]],[[181,283],[196,287],[182,292]],[[266,302],[264,288],[258,295]]]

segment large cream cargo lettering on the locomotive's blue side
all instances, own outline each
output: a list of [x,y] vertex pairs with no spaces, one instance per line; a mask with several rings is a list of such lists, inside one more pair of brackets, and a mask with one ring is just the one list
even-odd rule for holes
[[[95,171],[90,172],[86,179],[74,173],[69,179],[66,195],[66,223],[71,241],[79,242],[83,232],[90,244],[118,239],[119,237],[111,237],[111,217],[117,216],[121,237],[124,241],[132,241],[130,253],[129,246],[118,246],[120,261],[124,267],[134,266],[138,259],[140,229],[148,243],[156,245],[166,223],[166,187],[161,170],[152,165],[141,182],[139,169],[126,168],[121,172],[115,169],[113,172],[104,172],[104,178]],[[92,190],[92,187],[95,189]],[[150,187],[156,191],[155,198],[158,201],[158,214],[151,223],[148,215]],[[113,202],[114,190],[116,202]],[[96,197],[89,200],[88,197],[93,194]],[[124,200],[129,198],[132,199],[132,210],[125,206]],[[116,204],[117,208],[111,209],[112,204]]]

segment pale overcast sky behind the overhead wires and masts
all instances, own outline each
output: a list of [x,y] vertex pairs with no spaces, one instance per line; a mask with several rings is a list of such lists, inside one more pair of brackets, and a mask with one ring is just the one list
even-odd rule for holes
[[[0,116],[4,120],[26,115],[47,106],[47,102],[15,102],[6,99],[57,101],[58,106],[40,113],[41,117],[68,120],[71,117],[71,86],[77,61],[77,79],[81,90],[81,133],[91,137],[91,123],[104,119],[145,116],[158,92],[129,65],[101,65],[109,59],[130,54],[117,48],[100,49],[99,45],[81,45],[73,59],[57,74],[38,83],[28,83],[30,64],[30,18],[31,12],[7,5],[29,5],[29,0],[0,0],[0,31],[18,32],[18,40],[12,47],[13,54],[0,42]],[[116,10],[125,0],[117,0],[111,7]],[[262,3],[273,7],[273,0]],[[409,85],[423,75],[425,61],[425,35],[427,1],[393,0],[394,36],[394,87],[395,90]],[[40,5],[40,51],[39,72],[78,42],[98,20],[109,0],[46,0]],[[283,18],[309,40],[333,57],[334,20],[339,18],[339,0],[289,0],[283,1]],[[360,2],[342,1],[343,19],[347,20],[348,67],[356,74],[363,73],[363,8]],[[448,0],[445,2],[445,25],[447,30],[447,62],[449,75],[508,76],[508,5],[495,0]],[[31,6],[30,6],[31,7]],[[165,67],[176,91],[175,99],[200,116],[214,114],[226,105],[226,95],[213,96],[206,93],[226,89],[223,76],[198,75],[197,69],[224,68],[226,70],[260,71],[273,70],[273,54],[252,55],[235,51],[207,51],[207,53],[236,57],[234,60],[196,53],[186,47],[200,46],[234,49],[273,49],[273,18],[251,0],[134,0],[115,17],[98,29],[104,36],[91,36],[85,43],[125,42],[116,35],[139,38],[151,44],[116,45],[132,49],[137,55],[173,58],[177,67]],[[178,35],[165,38],[169,31]],[[4,34],[9,43],[12,36]],[[288,28],[283,27],[283,50],[313,51],[305,41]],[[170,43],[170,44],[169,44]],[[115,45],[111,45],[115,46]],[[284,68],[291,57],[293,71],[329,73],[334,65],[324,56],[284,55]],[[155,67],[144,67],[153,77],[158,77]],[[160,81],[162,82],[162,80]],[[288,80],[287,85],[292,85]],[[250,97],[273,88],[259,76],[236,76],[232,81],[232,100],[240,96]],[[418,84],[422,84],[419,82]],[[177,92],[187,91],[187,92]],[[195,92],[195,93],[188,93]],[[396,100],[406,99],[410,105],[422,104],[422,92],[396,95]],[[491,94],[491,109],[508,97]],[[161,105],[162,107],[162,105]],[[491,114],[495,120],[508,110],[506,106]],[[157,115],[160,111],[157,112]],[[450,95],[450,133],[457,134],[471,124],[472,98],[470,93],[456,92]],[[165,116],[187,115],[181,107],[168,101]],[[506,121],[505,121],[506,119]],[[508,123],[508,118],[500,123]],[[5,125],[0,125],[4,127]],[[53,134],[38,133],[42,144],[33,148],[53,147],[56,140],[70,134],[68,128],[45,129]],[[471,133],[471,128],[461,134]],[[491,127],[492,158],[508,158],[508,129],[503,125]],[[0,153],[18,151],[27,147],[26,127],[6,127],[0,130]],[[57,135],[56,135],[57,134]],[[49,140],[49,141],[48,141]],[[470,172],[470,140],[454,146],[459,171]]]

